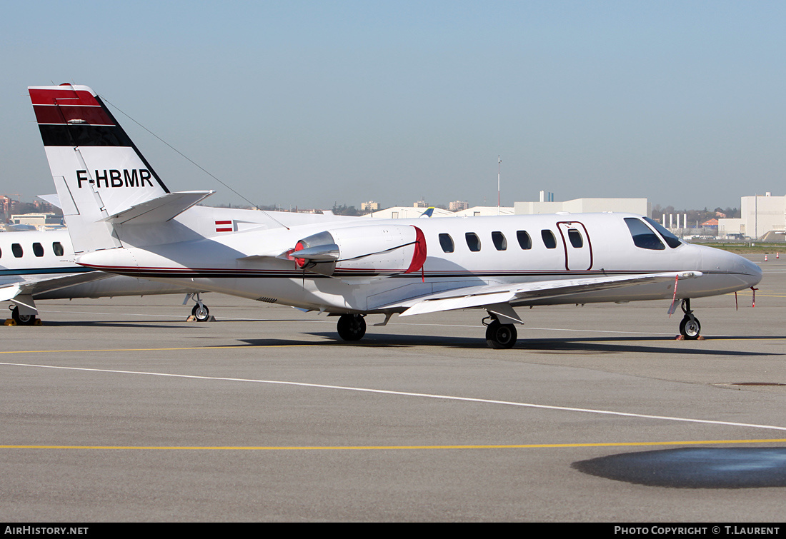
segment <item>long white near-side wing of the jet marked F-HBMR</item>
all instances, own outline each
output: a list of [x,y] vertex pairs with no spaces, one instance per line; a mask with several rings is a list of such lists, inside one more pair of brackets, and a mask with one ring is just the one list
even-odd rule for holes
[[[582,277],[578,279],[556,279],[531,283],[497,284],[457,288],[407,299],[400,303],[380,307],[381,310],[395,310],[406,307],[402,317],[413,314],[435,313],[442,310],[472,309],[473,307],[494,306],[503,311],[505,317],[517,320],[510,313],[511,302],[526,302],[527,299],[548,299],[582,292],[597,292],[612,288],[625,288],[637,284],[674,281],[701,277],[700,271],[648,273],[644,275],[613,275],[603,277]],[[502,305],[507,303],[508,305]],[[508,313],[508,314],[505,314]]]

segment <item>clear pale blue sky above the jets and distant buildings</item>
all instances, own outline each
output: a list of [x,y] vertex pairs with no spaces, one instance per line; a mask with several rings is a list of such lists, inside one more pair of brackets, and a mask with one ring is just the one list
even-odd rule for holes
[[[27,86],[94,88],[254,203],[784,193],[783,2],[2,2],[0,192],[53,185]],[[172,190],[228,189],[114,111]]]

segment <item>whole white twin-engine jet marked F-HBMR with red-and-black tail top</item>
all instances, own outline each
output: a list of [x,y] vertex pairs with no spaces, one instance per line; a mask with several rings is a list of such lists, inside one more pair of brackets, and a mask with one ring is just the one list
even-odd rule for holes
[[[200,207],[170,192],[87,86],[29,88],[76,262],[86,268],[338,317],[481,309],[490,347],[516,343],[514,306],[670,299],[696,339],[690,300],[758,283],[725,251],[684,244],[635,214],[368,220]],[[81,255],[80,255],[81,254]]]

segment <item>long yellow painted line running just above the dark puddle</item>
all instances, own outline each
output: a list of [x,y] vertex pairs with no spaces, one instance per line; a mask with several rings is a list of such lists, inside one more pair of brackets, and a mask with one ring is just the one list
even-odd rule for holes
[[680,442],[604,442],[472,446],[0,446],[0,449],[175,449],[181,451],[335,451],[387,449],[554,449],[565,447],[705,446],[717,444],[784,443],[786,438],[761,440],[695,440]]

